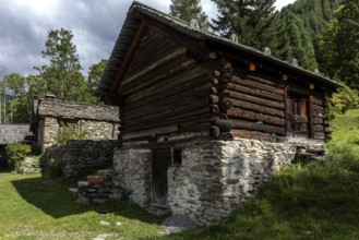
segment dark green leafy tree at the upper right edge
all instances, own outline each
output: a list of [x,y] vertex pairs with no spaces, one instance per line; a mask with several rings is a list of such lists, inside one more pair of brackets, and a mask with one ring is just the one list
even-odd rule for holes
[[316,40],[320,68],[359,89],[359,0],[344,1],[335,15]]

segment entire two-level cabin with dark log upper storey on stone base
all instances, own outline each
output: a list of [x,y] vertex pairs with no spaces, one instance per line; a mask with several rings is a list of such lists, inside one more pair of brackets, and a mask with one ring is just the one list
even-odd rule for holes
[[340,85],[139,2],[98,93],[120,107],[119,184],[143,207],[226,218],[298,154],[322,154]]

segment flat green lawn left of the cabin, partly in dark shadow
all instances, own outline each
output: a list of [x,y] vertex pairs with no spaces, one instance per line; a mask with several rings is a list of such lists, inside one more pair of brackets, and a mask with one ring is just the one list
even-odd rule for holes
[[[128,201],[80,205],[72,181],[0,173],[0,239],[143,239],[159,236],[163,217]],[[105,220],[109,226],[100,225]],[[117,223],[121,223],[117,226]]]

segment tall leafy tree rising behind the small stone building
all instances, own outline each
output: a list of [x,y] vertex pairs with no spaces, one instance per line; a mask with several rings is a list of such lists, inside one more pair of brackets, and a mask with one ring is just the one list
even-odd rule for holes
[[49,64],[35,68],[46,82],[46,91],[62,100],[80,100],[85,91],[85,79],[80,72],[80,59],[72,39],[70,31],[50,29],[41,51]]

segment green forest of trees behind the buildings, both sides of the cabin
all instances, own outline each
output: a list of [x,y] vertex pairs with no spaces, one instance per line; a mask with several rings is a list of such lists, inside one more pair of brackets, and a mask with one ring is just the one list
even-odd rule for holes
[[[171,0],[169,14],[203,29],[264,50],[273,57],[346,84],[331,99],[333,116],[358,104],[359,89],[359,0],[297,0],[275,10],[275,0],[212,0],[217,14],[207,16],[201,0]],[[1,75],[0,123],[29,122],[34,99],[51,93],[61,100],[99,104],[94,91],[107,60],[82,71],[73,34],[50,29],[41,57],[47,64],[35,65],[37,74]],[[0,71],[1,72],[1,71]]]

